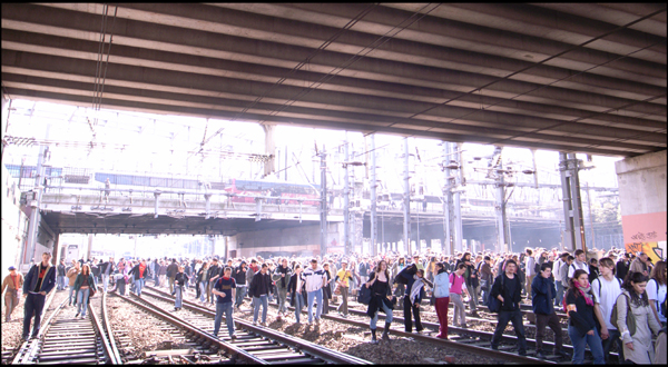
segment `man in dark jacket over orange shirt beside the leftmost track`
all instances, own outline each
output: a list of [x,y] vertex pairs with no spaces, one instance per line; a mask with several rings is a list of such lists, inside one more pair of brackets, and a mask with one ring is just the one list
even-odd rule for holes
[[51,266],[51,252],[46,251],[42,254],[42,260],[30,268],[23,282],[23,297],[26,298],[23,306],[23,340],[28,340],[30,321],[32,321],[33,316],[35,324],[30,337],[37,337],[45,300],[53,287],[56,287],[56,268]]

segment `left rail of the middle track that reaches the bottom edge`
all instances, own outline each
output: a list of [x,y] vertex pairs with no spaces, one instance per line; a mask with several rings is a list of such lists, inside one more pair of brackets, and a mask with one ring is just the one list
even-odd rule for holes
[[[237,358],[240,357],[244,360],[247,360],[247,361],[250,361],[250,363],[256,363],[256,364],[259,364],[259,365],[267,365],[268,364],[267,361],[265,361],[265,360],[263,360],[261,358],[257,358],[256,356],[254,356],[254,355],[252,355],[252,354],[249,354],[249,353],[247,353],[247,351],[245,351],[245,350],[243,350],[240,348],[237,348],[236,346],[234,346],[234,345],[232,345],[229,343],[223,341],[223,340],[214,337],[213,335],[210,335],[210,334],[202,330],[200,328],[191,325],[188,321],[178,319],[178,318],[169,315],[167,311],[163,310],[158,306],[151,304],[150,301],[148,301],[148,300],[146,300],[144,298],[137,297],[134,294],[130,294],[131,297],[125,297],[125,296],[120,296],[120,295],[116,295],[116,296],[120,297],[120,298],[122,298],[125,300],[127,300],[131,305],[135,305],[135,306],[137,306],[137,307],[139,307],[139,308],[141,308],[141,309],[144,309],[146,311],[148,311],[151,315],[155,315],[155,316],[157,316],[157,317],[159,317],[161,319],[165,319],[166,321],[168,321],[171,325],[178,326],[178,327],[180,327],[183,329],[186,329],[188,331],[191,331],[191,333],[196,334],[200,338],[207,340],[209,344],[218,346],[220,349],[225,349],[232,356],[233,359],[237,359]],[[137,300],[135,300],[132,298],[138,298],[138,299],[141,300],[141,302],[137,301]],[[147,306],[147,305],[144,305],[143,302],[150,305],[150,307]]]

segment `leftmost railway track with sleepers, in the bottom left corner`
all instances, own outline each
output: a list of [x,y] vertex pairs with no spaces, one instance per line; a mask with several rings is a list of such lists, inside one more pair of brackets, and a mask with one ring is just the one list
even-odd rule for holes
[[[100,300],[94,297],[85,318],[72,318],[63,313],[68,299],[45,320],[38,336],[23,343],[12,364],[120,364],[118,351],[109,343],[108,319]],[[94,306],[94,304],[101,304]],[[45,306],[47,307],[47,306]]]

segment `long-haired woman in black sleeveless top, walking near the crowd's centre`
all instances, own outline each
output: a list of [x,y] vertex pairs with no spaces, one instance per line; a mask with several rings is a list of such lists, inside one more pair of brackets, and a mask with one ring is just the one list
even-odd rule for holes
[[376,268],[371,272],[369,281],[364,285],[371,289],[371,300],[366,315],[371,317],[369,328],[371,329],[371,343],[377,344],[376,340],[376,323],[379,321],[379,311],[385,314],[385,329],[381,337],[385,341],[390,341],[390,326],[392,325],[392,284],[391,274],[387,269],[387,262],[381,260]]

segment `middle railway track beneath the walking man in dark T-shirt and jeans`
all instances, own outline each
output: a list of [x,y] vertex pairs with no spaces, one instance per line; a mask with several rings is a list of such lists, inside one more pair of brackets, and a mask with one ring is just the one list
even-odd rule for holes
[[[154,301],[148,301],[148,297]],[[244,359],[258,364],[371,364],[367,360],[352,357],[343,353],[323,348],[313,343],[295,338],[283,333],[253,326],[244,320],[235,320],[236,339],[227,334],[225,323],[222,323],[219,336],[213,335],[213,318],[215,313],[184,300],[183,310],[169,311],[174,308],[174,297],[153,287],[143,290],[141,302],[151,307],[160,315],[178,320],[181,327],[197,333],[213,345],[218,345],[235,359]],[[150,306],[149,306],[150,305]],[[176,315],[175,315],[176,314]]]

